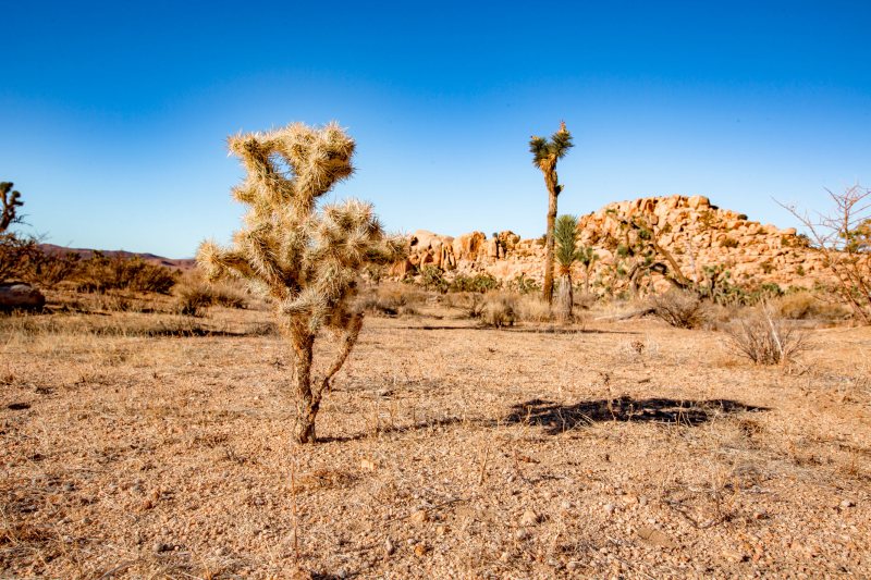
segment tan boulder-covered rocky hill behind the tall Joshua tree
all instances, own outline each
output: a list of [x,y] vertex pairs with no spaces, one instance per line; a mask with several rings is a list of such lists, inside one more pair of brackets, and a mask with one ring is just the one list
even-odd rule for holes
[[[733,282],[746,284],[811,287],[827,280],[821,256],[808,248],[807,239],[795,229],[750,221],[702,196],[671,196],[614,202],[579,218],[578,238],[598,256],[589,273],[591,283],[605,285],[623,273],[628,258],[621,246],[638,235],[627,232],[627,223],[642,224],[645,235],[652,236],[694,281],[702,280],[707,267],[720,267],[729,272]],[[433,266],[445,272],[488,272],[502,281],[520,274],[538,282],[543,277],[542,239],[520,239],[510,231],[489,237],[483,232],[451,237],[418,231],[409,242],[409,259],[394,268],[396,276]],[[577,274],[585,275],[582,267]],[[655,273],[649,283],[658,288],[667,285]]]

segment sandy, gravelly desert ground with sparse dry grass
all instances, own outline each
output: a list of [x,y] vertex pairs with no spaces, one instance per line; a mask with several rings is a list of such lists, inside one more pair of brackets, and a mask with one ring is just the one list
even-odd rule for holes
[[265,308],[0,317],[0,577],[871,576],[871,329],[586,318],[369,316],[297,446]]

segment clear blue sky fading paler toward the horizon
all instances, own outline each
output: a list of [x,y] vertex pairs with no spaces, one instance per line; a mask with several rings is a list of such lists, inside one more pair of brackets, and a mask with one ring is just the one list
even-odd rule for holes
[[224,139],[338,120],[336,197],[389,229],[544,230],[527,151],[564,119],[561,212],[703,194],[781,226],[871,184],[871,3],[0,0],[0,180],[26,231],[192,256],[243,208]]

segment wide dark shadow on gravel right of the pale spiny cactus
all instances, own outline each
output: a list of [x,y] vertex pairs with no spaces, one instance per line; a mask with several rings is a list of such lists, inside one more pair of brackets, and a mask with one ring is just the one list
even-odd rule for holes
[[557,434],[569,429],[604,421],[659,422],[696,427],[714,417],[764,410],[769,409],[724,398],[711,400],[636,399],[625,395],[614,399],[581,400],[575,405],[559,405],[551,400],[532,399],[514,405],[511,414],[505,418],[505,422],[540,425],[545,428],[547,433]]

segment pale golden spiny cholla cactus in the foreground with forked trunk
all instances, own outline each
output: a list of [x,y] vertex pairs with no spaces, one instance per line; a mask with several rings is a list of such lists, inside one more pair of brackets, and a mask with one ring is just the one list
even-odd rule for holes
[[[363,326],[363,312],[352,304],[358,274],[404,257],[405,242],[384,234],[369,203],[351,199],[318,208],[318,198],[354,171],[354,140],[336,124],[295,123],[237,135],[229,145],[247,171],[233,196],[249,209],[233,247],[205,242],[197,261],[210,280],[235,276],[271,298],[293,348],[296,440],[314,443],[321,399]],[[320,329],[331,331],[339,353],[316,373]]]

